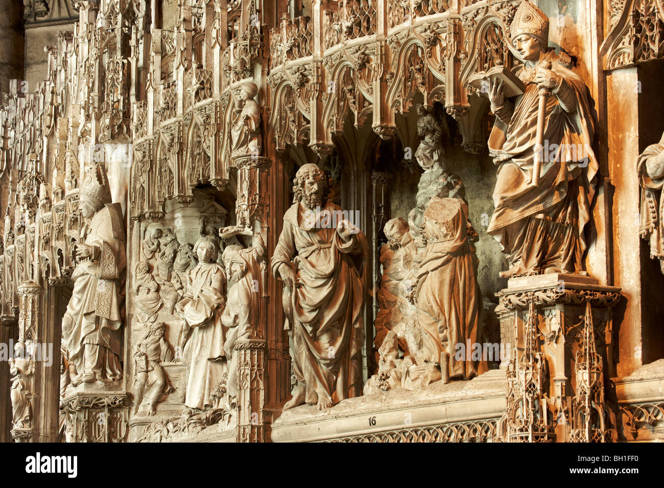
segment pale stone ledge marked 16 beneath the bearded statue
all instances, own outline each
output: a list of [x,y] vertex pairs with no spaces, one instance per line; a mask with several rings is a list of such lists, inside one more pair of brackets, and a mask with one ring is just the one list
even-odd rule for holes
[[328,410],[303,405],[270,426],[272,442],[491,441],[505,412],[505,372],[491,370],[470,381],[441,382],[419,392],[343,400]]

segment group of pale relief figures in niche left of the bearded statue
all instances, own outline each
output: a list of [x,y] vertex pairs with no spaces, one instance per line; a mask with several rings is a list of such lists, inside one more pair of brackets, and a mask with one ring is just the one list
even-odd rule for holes
[[[226,243],[222,254],[214,236],[202,236],[192,250],[190,244],[175,244],[177,238],[173,240],[168,228],[146,231],[143,250],[149,249],[153,259],[177,248],[173,262],[186,272],[186,285],[175,305],[182,329],[171,335],[177,338],[173,348],[165,337],[167,326],[156,321],[158,317],[173,318],[162,307],[168,300],[160,295],[163,284],[149,272],[149,262],[137,264],[135,305],[137,317],[145,317],[147,329],[135,346],[134,414],[140,414],[142,402],[148,406],[145,414],[152,416],[159,402],[169,398],[170,403],[184,404],[183,418],[189,420],[183,429],[211,418],[218,417],[227,426],[236,420],[238,355],[234,349],[238,341],[256,337],[260,323],[260,277],[266,257],[260,230],[260,222],[254,222],[254,242],[244,248],[236,237],[247,233],[243,226],[221,228],[219,235]],[[175,274],[171,268],[165,269]],[[161,310],[164,312],[159,313]],[[178,363],[185,370],[174,393],[176,385],[163,366]]]

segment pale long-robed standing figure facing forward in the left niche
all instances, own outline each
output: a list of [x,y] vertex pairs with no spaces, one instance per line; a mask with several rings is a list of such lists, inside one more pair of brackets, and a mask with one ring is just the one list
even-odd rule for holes
[[187,365],[185,406],[207,410],[212,407],[210,393],[226,372],[221,323],[226,305],[226,273],[216,262],[218,248],[214,237],[201,237],[194,252],[199,264],[189,272],[187,292],[176,305],[185,322],[179,347]]

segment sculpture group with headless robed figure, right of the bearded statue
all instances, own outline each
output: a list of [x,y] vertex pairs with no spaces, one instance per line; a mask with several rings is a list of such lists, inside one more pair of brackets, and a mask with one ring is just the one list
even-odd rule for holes
[[487,369],[482,361],[457,355],[459,344],[465,350],[482,337],[477,232],[463,184],[444,163],[442,140],[429,137],[440,132],[441,116],[421,107],[418,114],[424,139],[415,155],[425,172],[410,226],[402,218],[384,226],[388,243],[380,250],[380,311],[374,322],[378,372],[365,384],[365,394],[469,380]]

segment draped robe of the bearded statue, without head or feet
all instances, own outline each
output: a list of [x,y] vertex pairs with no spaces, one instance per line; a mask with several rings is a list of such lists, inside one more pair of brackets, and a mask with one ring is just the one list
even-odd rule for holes
[[[299,286],[291,290],[287,327],[293,327],[293,372],[306,386],[305,402],[323,396],[335,404],[362,392],[367,243],[361,232],[345,242],[335,226],[316,228],[305,210],[295,203],[286,211],[272,273],[278,276],[284,263],[295,268]],[[325,210],[341,208],[329,202]]]

